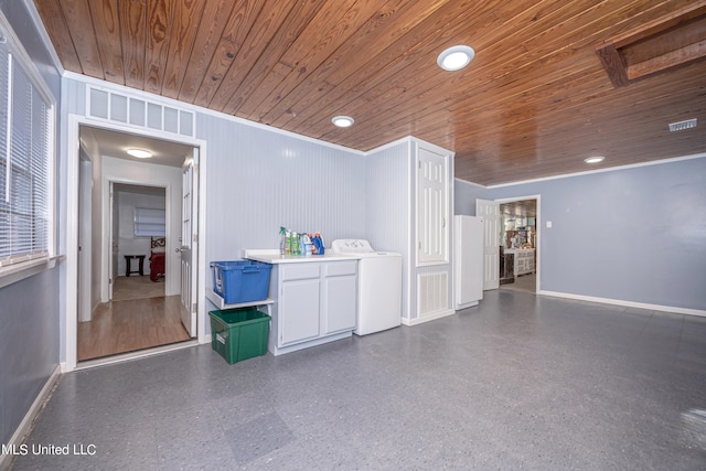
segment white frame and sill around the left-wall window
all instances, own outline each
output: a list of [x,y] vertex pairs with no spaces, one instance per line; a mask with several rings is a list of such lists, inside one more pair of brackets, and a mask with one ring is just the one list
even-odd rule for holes
[[[46,139],[45,149],[46,152],[46,165],[42,165],[46,171],[46,183],[44,192],[46,193],[45,207],[46,212],[46,247],[42,247],[35,253],[29,254],[13,254],[10,253],[9,257],[4,256],[0,260],[0,287],[15,282],[32,276],[43,269],[51,268],[56,260],[56,100],[49,89],[49,86],[44,82],[42,75],[38,71],[36,66],[30,58],[29,54],[22,46],[20,40],[14,34],[10,23],[0,12],[0,46],[8,49],[8,96],[7,101],[0,104],[4,107],[8,114],[7,121],[0,122],[0,126],[7,126],[7,139],[4,142],[7,154],[2,156],[9,165],[2,169],[3,171],[11,172],[11,154],[10,144],[12,142],[12,125],[11,125],[11,104],[12,104],[12,69],[20,67],[22,72],[29,77],[33,92],[36,92],[39,97],[44,101],[46,106]],[[32,144],[29,143],[31,147]],[[0,195],[3,201],[8,197],[6,192]],[[33,229],[34,231],[34,229]],[[33,232],[34,235],[34,232]]]

